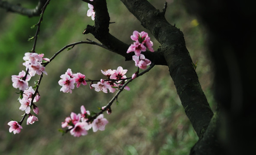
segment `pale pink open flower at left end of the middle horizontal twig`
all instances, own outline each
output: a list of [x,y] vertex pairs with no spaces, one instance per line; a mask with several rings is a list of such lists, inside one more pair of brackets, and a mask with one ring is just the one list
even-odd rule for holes
[[68,92],[72,93],[71,89],[75,88],[75,85],[74,85],[74,83],[76,82],[75,79],[70,78],[70,75],[68,74],[62,74],[60,78],[62,78],[59,81],[60,86],[62,86],[62,88],[60,88],[60,91],[63,91],[64,93],[68,93]]

